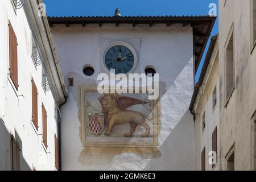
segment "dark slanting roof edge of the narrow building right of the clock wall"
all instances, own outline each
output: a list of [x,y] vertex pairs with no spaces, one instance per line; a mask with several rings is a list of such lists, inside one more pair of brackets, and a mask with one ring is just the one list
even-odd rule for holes
[[218,34],[212,36],[212,38],[210,39],[210,45],[209,45],[209,48],[208,48],[208,51],[207,51],[207,55],[205,57],[205,61],[204,61],[202,71],[200,73],[199,81],[197,82],[197,84],[195,86],[193,96],[192,96],[192,99],[191,99],[191,103],[189,105],[189,110],[191,110],[192,112],[193,112],[193,107],[194,107],[195,102],[196,102],[197,94],[199,93],[199,89],[200,89],[201,85],[203,84],[205,74],[207,73],[208,65],[210,63],[210,59],[212,57],[214,47],[216,46],[217,38],[218,38]]

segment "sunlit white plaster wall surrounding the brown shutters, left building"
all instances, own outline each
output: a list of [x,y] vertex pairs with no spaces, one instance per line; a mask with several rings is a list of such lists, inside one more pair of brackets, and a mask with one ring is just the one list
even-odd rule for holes
[[[18,92],[9,74],[9,20],[18,39]],[[24,10],[15,15],[11,1],[0,6],[0,170],[11,169],[10,135],[20,144],[20,169],[55,169],[54,117],[55,101],[51,92],[44,92],[42,66],[35,67],[31,57],[31,30]],[[31,77],[38,88],[39,131],[32,124]],[[48,150],[42,145],[42,102],[47,110]]]

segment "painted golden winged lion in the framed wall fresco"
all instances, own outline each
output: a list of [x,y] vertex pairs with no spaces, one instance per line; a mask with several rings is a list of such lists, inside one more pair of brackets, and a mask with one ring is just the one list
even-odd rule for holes
[[[98,100],[103,108],[102,113],[105,114],[105,126],[108,127],[108,130],[104,135],[110,135],[115,125],[130,123],[130,132],[126,133],[124,137],[131,137],[138,125],[146,129],[146,133],[142,134],[141,137],[148,137],[150,134],[150,126],[148,126],[146,123],[146,119],[148,118],[138,111],[126,109],[137,104],[142,104],[143,106],[144,104],[150,104],[149,100],[140,101],[131,97],[118,96],[117,94],[105,94],[104,97],[100,97]],[[146,106],[144,107],[152,113],[150,109],[148,109]],[[154,115],[152,119],[153,118]]]

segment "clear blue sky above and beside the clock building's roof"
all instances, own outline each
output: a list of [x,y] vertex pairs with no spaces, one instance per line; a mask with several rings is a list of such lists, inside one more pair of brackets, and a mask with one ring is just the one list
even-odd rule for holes
[[[123,16],[208,15],[210,3],[216,3],[218,7],[218,0],[44,0],[44,3],[48,16],[113,16],[116,8],[121,10]],[[217,33],[218,19],[212,36]],[[199,80],[206,52],[207,49],[197,71],[195,83]]]

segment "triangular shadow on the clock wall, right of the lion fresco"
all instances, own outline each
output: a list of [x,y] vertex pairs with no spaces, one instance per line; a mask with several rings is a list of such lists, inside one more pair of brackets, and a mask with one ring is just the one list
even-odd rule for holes
[[[144,170],[184,171],[195,168],[195,164],[193,163],[194,134],[193,118],[189,111],[187,111],[162,146],[159,147],[159,150],[163,154],[162,158],[158,160],[152,159]],[[177,150],[179,153],[176,152]]]

